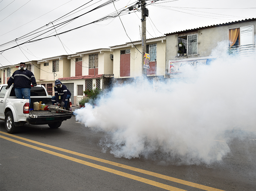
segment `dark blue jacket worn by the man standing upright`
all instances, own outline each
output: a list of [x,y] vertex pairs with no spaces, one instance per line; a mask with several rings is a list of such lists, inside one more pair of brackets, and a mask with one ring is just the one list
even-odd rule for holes
[[31,83],[36,84],[36,78],[29,70],[16,70],[7,83],[9,86],[13,83],[14,88],[31,88]]

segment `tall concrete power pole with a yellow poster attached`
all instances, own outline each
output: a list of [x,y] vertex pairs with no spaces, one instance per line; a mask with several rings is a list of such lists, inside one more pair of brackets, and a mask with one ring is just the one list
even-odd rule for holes
[[147,44],[146,44],[146,17],[148,17],[148,9],[145,7],[145,0],[141,0],[141,21],[142,21],[142,77],[147,77],[147,69],[144,68],[144,53],[147,53]]

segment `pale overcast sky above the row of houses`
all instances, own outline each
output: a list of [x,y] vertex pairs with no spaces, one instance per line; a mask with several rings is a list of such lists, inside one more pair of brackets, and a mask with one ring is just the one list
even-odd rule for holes
[[[138,11],[140,8],[135,11],[127,9],[135,5],[137,1],[113,1],[109,1],[109,4],[104,7],[95,9],[106,3],[107,0],[92,0],[91,2],[89,0],[0,0],[0,50],[86,25],[58,36],[1,51],[1,65],[14,65],[20,62],[109,48],[141,40],[141,12]],[[246,3],[238,0],[211,2],[205,0],[159,0],[146,1],[146,3],[149,11],[146,21],[147,39],[160,37],[170,32],[256,17],[255,0],[248,0]],[[82,5],[84,6],[79,8]],[[135,8],[135,6],[133,7]],[[76,11],[73,11],[75,9]],[[124,10],[120,13],[120,18],[115,17],[116,10],[118,12]],[[68,14],[71,11],[73,12]],[[68,15],[62,17],[66,14]],[[58,25],[82,14],[84,15],[62,26]],[[107,17],[108,19],[105,21],[92,23],[108,15],[114,17]],[[60,17],[62,18],[57,20]],[[39,28],[41,29],[37,30]],[[50,29],[52,30],[47,32]],[[47,33],[41,35],[43,32]],[[20,38],[29,33],[30,36]],[[40,36],[36,37],[38,35]],[[17,40],[15,41],[15,39]]]

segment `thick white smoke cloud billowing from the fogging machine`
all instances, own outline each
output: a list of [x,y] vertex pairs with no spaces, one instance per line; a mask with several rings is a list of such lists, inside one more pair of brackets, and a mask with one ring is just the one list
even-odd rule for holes
[[[224,46],[225,47],[225,46]],[[75,111],[76,120],[104,131],[99,145],[115,157],[145,157],[211,164],[229,151],[228,129],[255,132],[256,65],[252,57],[222,54],[194,83],[147,81],[114,87],[97,106]]]

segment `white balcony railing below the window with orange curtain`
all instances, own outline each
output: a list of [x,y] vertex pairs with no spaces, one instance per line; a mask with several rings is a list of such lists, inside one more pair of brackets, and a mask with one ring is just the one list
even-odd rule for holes
[[239,56],[255,56],[256,55],[256,46],[255,44],[248,44],[242,46],[232,46],[228,47],[228,52],[230,54],[238,54]]

